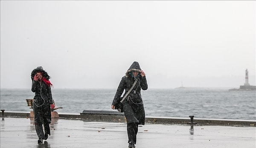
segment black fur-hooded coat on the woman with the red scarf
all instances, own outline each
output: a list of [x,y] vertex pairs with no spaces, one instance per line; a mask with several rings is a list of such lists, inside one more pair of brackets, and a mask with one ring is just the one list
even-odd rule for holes
[[35,115],[35,124],[47,124],[51,123],[51,107],[52,101],[52,90],[51,87],[44,83],[44,81],[34,81],[36,73],[41,72],[47,80],[50,76],[43,67],[37,67],[31,73],[32,79],[32,92],[35,93],[33,110]]

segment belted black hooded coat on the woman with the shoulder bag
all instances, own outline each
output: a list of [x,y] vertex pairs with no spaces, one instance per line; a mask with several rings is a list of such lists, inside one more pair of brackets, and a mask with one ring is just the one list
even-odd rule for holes
[[131,64],[131,67],[127,70],[125,73],[125,76],[122,77],[119,86],[116,90],[116,95],[114,96],[112,105],[116,105],[118,102],[120,102],[120,97],[125,90],[125,94],[128,92],[128,90],[132,87],[134,84],[134,81],[137,81],[135,84],[133,90],[129,93],[129,95],[125,98],[123,103],[123,111],[125,113],[125,118],[127,121],[127,124],[136,122],[139,125],[145,125],[145,110],[143,105],[143,100],[141,97],[141,89],[147,90],[148,84],[146,76],[142,77],[139,73],[139,75],[135,78],[132,75],[132,71],[138,71],[140,72],[140,65],[138,62],[134,62]]

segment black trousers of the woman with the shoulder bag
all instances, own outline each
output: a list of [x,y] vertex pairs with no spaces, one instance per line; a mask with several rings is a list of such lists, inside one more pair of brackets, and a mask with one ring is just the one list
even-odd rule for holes
[[128,134],[128,143],[134,142],[136,144],[138,133],[138,123],[128,123],[127,124],[127,134]]

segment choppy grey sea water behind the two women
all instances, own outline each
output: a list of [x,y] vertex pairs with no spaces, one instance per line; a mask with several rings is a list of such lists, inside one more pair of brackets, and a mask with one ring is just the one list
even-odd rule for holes
[[[58,113],[83,110],[112,110],[116,89],[55,89],[52,96]],[[256,120],[256,91],[229,91],[222,88],[148,89],[141,92],[146,116],[207,119]],[[31,111],[26,99],[30,89],[1,89],[1,110]]]

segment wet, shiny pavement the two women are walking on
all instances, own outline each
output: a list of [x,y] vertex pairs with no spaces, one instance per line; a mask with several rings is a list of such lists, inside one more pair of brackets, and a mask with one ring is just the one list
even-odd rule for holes
[[[51,136],[38,144],[33,118],[2,118],[1,148],[128,148],[126,123],[52,118]],[[256,128],[146,124],[136,148],[256,148]]]

